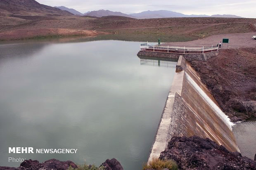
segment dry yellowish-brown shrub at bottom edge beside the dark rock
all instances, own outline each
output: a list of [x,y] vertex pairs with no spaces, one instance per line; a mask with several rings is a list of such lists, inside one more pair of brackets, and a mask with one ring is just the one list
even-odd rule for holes
[[161,159],[153,158],[151,162],[145,163],[143,165],[142,170],[146,170],[146,169],[163,170],[164,168],[167,168],[169,170],[178,170],[178,165],[172,159],[161,160]]

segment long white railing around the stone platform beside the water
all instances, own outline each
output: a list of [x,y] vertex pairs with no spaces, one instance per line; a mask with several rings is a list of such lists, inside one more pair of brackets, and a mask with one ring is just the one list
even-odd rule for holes
[[218,47],[175,47],[163,45],[140,44],[140,51],[168,52],[168,53],[208,53],[218,51]]

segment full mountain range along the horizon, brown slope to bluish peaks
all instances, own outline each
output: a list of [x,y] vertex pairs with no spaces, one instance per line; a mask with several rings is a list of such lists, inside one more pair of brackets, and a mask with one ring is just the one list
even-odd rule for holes
[[158,11],[143,11],[134,14],[124,14],[122,12],[113,12],[110,10],[100,9],[97,11],[89,11],[84,14],[75,9],[64,6],[50,7],[38,3],[36,0],[0,0],[0,16],[8,15],[86,15],[91,17],[106,17],[106,16],[121,16],[135,19],[150,19],[150,18],[173,18],[173,17],[228,17],[228,18],[242,18],[236,15],[186,15],[179,12],[168,10]]

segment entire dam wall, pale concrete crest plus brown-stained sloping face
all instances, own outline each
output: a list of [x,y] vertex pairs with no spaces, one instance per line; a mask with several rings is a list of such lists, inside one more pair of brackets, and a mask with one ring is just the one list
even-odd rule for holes
[[232,123],[187,61],[179,59],[173,83],[149,155],[159,158],[173,136],[209,138],[229,151],[239,151]]

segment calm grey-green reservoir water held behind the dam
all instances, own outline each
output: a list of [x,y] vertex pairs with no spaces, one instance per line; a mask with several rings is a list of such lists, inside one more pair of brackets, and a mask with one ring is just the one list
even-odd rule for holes
[[[138,42],[26,42],[0,45],[0,165],[8,157],[125,170],[147,161],[175,62],[139,59]],[[161,67],[163,66],[163,67]],[[8,153],[8,147],[78,149]]]

